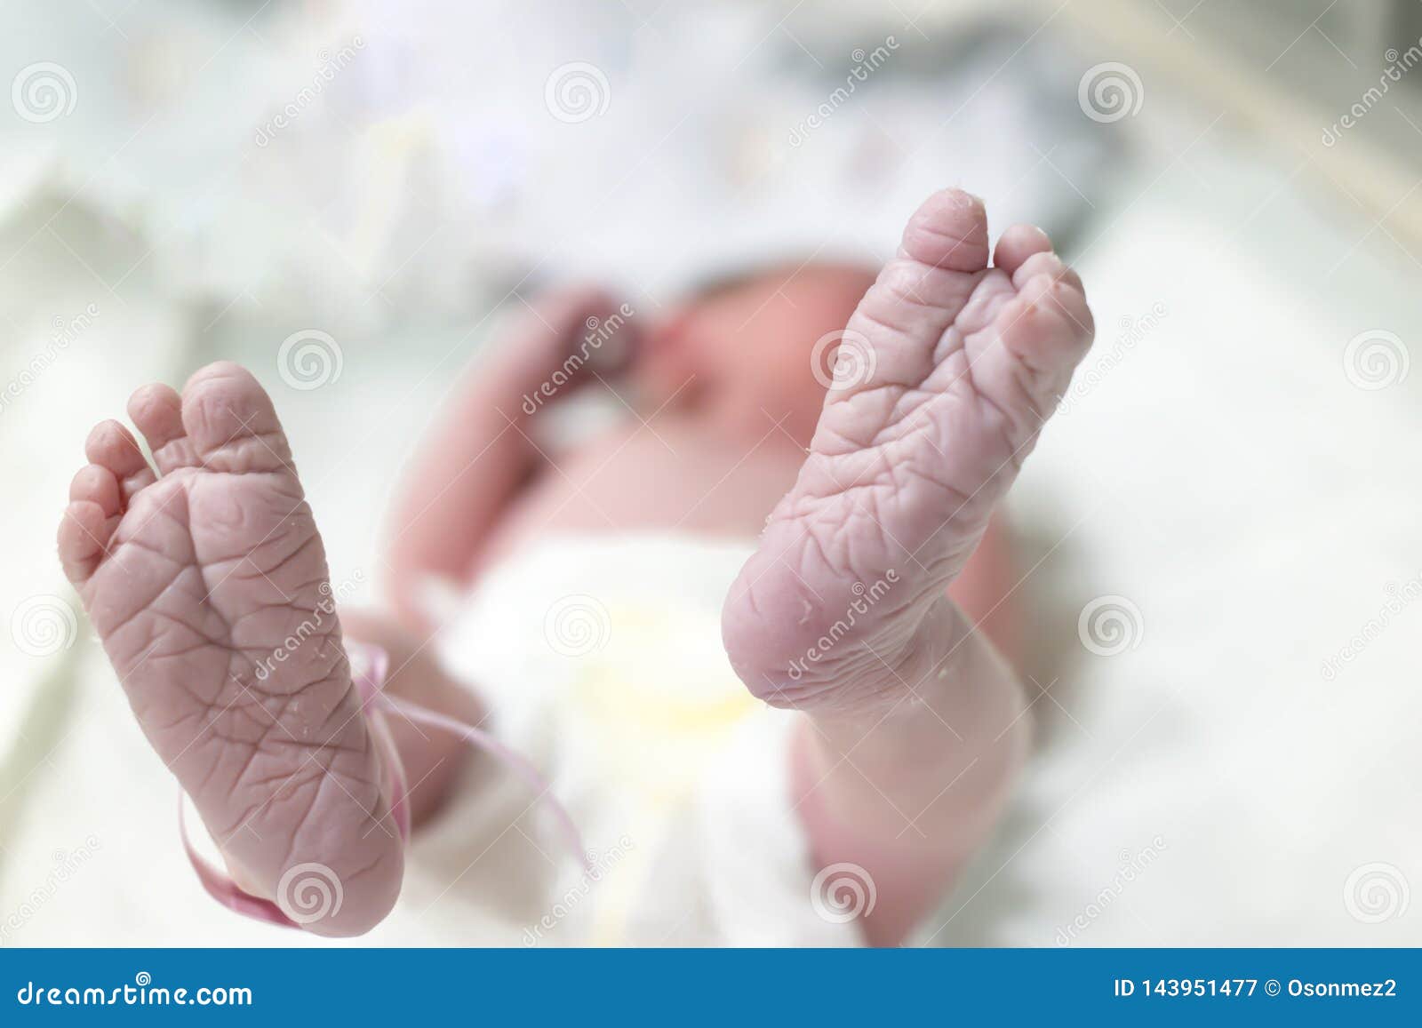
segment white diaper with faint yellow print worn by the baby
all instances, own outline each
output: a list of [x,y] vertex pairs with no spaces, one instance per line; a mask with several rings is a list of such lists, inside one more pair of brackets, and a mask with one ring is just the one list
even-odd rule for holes
[[441,634],[445,665],[488,704],[485,727],[549,779],[592,869],[528,785],[481,756],[418,833],[381,941],[857,943],[812,903],[792,715],[755,701],[721,646],[721,603],[749,552],[560,536],[481,579]]

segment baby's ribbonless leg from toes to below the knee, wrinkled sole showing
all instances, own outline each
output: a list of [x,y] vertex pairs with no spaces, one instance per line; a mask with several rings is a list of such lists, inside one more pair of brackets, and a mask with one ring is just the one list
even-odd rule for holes
[[806,714],[799,810],[820,862],[873,877],[876,944],[941,896],[1025,752],[1021,690],[946,590],[1091,337],[1039,229],[1010,229],[990,267],[981,203],[931,196],[850,318],[850,374],[727,597],[737,673]]

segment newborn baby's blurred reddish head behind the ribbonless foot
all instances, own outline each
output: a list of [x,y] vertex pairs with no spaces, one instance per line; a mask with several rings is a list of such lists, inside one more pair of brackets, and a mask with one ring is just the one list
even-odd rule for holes
[[648,326],[634,380],[653,408],[704,414],[757,437],[784,417],[782,428],[809,445],[836,340],[818,354],[815,344],[843,330],[873,280],[866,267],[836,263],[722,279]]

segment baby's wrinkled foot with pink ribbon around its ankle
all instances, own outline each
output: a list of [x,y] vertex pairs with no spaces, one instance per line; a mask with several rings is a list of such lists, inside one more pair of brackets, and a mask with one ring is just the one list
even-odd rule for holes
[[310,931],[365,931],[395,901],[404,847],[272,401],[223,363],[128,411],[156,473],[117,421],[90,434],[65,574],[237,883]]

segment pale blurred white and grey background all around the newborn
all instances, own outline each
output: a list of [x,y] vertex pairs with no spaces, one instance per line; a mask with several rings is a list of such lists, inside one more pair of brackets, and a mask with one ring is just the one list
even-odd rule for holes
[[134,387],[247,364],[373,600],[520,297],[882,260],[943,185],[1054,235],[1098,343],[1008,510],[1039,751],[920,941],[1422,941],[1418,4],[3,10],[0,944],[310,941],[201,892],[54,557]]

